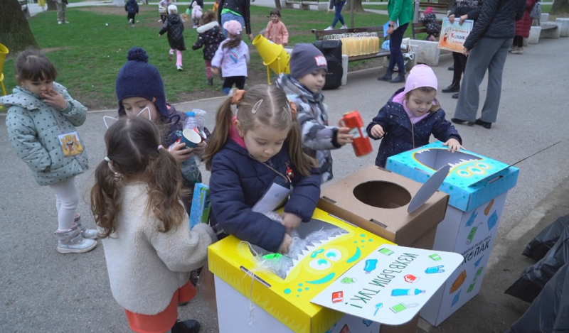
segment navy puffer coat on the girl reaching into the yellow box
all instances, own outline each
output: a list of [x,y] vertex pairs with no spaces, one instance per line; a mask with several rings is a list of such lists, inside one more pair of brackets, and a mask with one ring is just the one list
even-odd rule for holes
[[278,251],[285,237],[285,226],[265,214],[252,212],[252,207],[273,182],[291,185],[285,177],[287,164],[292,168],[293,189],[285,212],[309,222],[320,197],[318,170],[311,170],[309,177],[301,175],[290,161],[287,142],[277,155],[261,163],[250,157],[246,148],[228,138],[211,163],[211,225],[219,224],[227,234],[267,251]]

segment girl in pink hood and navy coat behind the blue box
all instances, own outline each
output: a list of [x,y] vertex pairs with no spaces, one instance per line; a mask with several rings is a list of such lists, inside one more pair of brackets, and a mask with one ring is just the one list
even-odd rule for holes
[[425,146],[431,134],[450,151],[462,148],[462,138],[445,111],[435,99],[437,77],[427,65],[418,65],[410,71],[405,88],[399,89],[379,110],[368,125],[368,135],[374,140],[383,138],[376,165],[385,168],[388,157]]

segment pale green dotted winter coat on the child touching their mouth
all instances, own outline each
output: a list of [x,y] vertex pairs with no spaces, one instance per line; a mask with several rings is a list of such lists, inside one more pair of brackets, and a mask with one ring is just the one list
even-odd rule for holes
[[65,157],[58,136],[77,131],[87,118],[87,108],[71,98],[67,89],[53,82],[53,89],[63,94],[68,107],[56,109],[23,87],[0,97],[8,109],[6,127],[18,156],[28,164],[39,185],[50,185],[72,178],[89,168],[85,142],[83,153]]

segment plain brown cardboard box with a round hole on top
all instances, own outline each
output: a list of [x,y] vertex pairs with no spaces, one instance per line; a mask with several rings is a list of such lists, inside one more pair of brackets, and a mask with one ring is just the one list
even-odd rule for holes
[[411,199],[421,187],[370,165],[324,188],[318,208],[400,246],[432,249],[449,196],[435,192],[415,212],[408,213]]

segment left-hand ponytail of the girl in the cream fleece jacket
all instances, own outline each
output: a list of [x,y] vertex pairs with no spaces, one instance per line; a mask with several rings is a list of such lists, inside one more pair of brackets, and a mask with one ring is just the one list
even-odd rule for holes
[[99,235],[102,238],[115,232],[121,194],[120,177],[110,170],[106,160],[102,160],[95,169],[95,185],[91,189],[91,212],[95,223],[102,229]]

